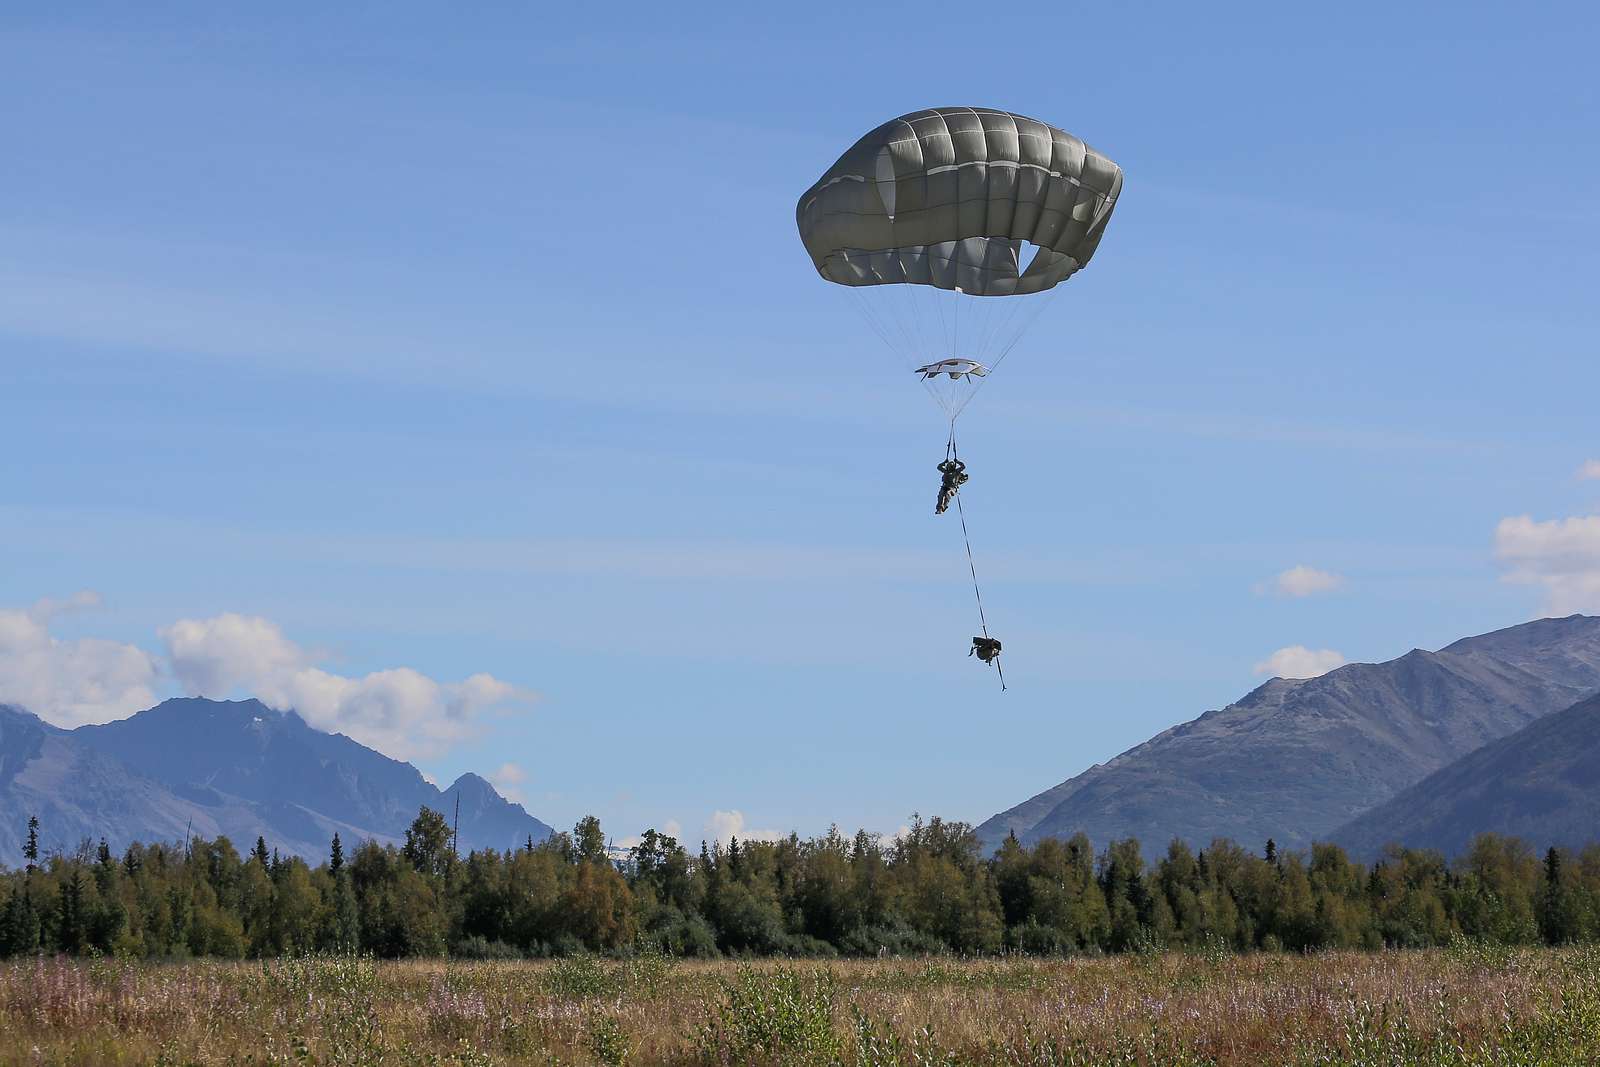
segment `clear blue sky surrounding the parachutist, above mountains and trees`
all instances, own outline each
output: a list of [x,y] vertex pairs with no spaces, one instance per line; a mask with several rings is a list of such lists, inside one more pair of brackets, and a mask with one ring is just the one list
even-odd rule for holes
[[[0,686],[269,621],[538,693],[440,781],[694,840],[976,822],[1277,649],[1600,609],[1594,8],[763,11],[0,14]],[[962,418],[1008,693],[941,416],[794,229],[942,104],[1126,171]]]

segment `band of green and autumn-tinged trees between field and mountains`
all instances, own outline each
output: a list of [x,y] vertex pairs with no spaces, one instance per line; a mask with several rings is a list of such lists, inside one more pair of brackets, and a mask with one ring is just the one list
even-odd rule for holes
[[1338,845],[1261,853],[1229,840],[1160,859],[1085,835],[986,856],[963,822],[914,819],[883,840],[838,830],[730,840],[691,853],[646,832],[606,848],[600,822],[459,856],[424,808],[405,845],[338,835],[310,867],[261,838],[106,841],[0,870],[0,955],[130,958],[547,957],[642,949],[722,955],[1032,955],[1165,949],[1317,950],[1600,941],[1600,845],[1550,848],[1483,833],[1461,856],[1392,846],[1373,864]]

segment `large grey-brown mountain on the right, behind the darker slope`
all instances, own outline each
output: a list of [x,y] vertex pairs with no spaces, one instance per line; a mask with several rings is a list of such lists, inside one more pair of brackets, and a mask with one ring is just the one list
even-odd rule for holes
[[1304,846],[1442,766],[1600,693],[1600,619],[1541,619],[1437,653],[1274,678],[979,827],[995,848],[1083,830]]

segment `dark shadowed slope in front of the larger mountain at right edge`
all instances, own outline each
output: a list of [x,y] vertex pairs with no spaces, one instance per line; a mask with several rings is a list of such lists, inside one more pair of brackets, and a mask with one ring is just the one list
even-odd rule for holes
[[1600,697],[1469,752],[1330,838],[1363,859],[1390,841],[1456,856],[1485,830],[1541,849],[1600,840]]

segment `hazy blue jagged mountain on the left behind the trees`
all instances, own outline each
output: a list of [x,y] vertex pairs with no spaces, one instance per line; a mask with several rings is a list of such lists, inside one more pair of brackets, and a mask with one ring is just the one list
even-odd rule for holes
[[8,865],[21,862],[29,814],[56,848],[101,837],[122,848],[186,832],[226,833],[245,848],[259,835],[317,861],[334,832],[350,845],[400,841],[418,808],[453,817],[458,797],[462,851],[550,835],[477,774],[440,790],[410,763],[259,701],[166,701],[70,731],[0,705],[0,862]]

